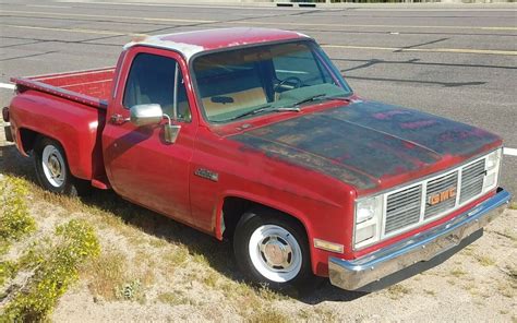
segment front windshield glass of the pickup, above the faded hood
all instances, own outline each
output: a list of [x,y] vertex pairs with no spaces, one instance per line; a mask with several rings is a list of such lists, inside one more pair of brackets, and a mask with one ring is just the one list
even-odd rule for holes
[[211,122],[351,94],[326,55],[306,40],[207,53],[194,59],[193,71]]

